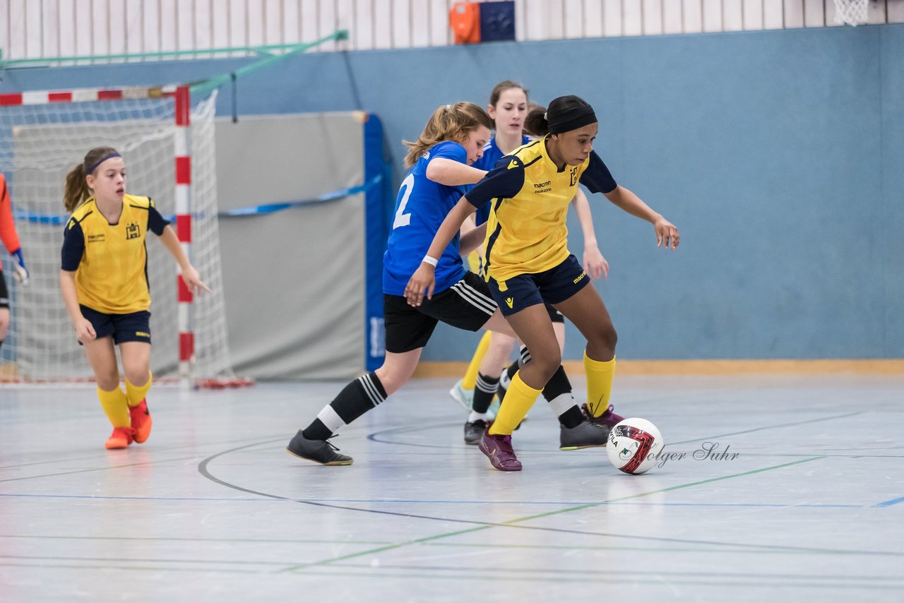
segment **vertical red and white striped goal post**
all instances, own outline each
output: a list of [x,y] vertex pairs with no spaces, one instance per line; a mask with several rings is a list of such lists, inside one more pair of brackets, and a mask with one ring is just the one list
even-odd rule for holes
[[[185,257],[192,258],[192,155],[190,116],[192,99],[187,86],[175,90],[175,224]],[[179,290],[179,380],[191,385],[194,369],[192,292],[185,286],[182,270],[176,275]]]

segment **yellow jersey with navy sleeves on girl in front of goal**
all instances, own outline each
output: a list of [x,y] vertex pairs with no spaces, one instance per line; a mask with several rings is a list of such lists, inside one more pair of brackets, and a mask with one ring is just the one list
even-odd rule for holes
[[163,234],[166,221],[150,197],[126,194],[115,224],[94,197],[72,212],[62,243],[62,269],[75,272],[79,303],[106,314],[150,309],[146,236]]

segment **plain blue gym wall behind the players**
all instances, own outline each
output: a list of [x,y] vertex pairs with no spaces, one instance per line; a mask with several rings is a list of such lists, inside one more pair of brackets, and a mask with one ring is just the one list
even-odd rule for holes
[[[247,62],[16,70],[0,91],[198,80]],[[682,231],[680,250],[657,250],[649,225],[591,198],[620,357],[904,356],[904,25],[306,55],[240,80],[237,101],[380,115],[398,184],[401,138],[504,79],[540,102],[588,99],[617,181]],[[230,110],[223,90],[218,113]],[[425,360],[466,360],[476,335],[436,339]]]

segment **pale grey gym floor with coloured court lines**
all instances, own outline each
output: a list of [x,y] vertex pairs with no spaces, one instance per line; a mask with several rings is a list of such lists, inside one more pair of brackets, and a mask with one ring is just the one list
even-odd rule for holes
[[284,449],[344,382],[155,387],[117,451],[93,388],[0,389],[0,598],[904,598],[904,376],[617,377],[676,453],[643,476],[561,452],[542,399],[496,471],[452,381],[342,429],[352,466]]

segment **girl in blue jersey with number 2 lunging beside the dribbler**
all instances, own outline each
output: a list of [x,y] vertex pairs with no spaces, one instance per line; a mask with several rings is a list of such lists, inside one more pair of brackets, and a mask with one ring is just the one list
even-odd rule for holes
[[[456,232],[434,255],[425,257],[433,235],[447,213],[485,170],[472,167],[490,138],[490,117],[474,103],[444,105],[434,111],[417,142],[410,147],[383,255],[383,319],[386,360],[345,386],[316,419],[299,429],[287,450],[324,465],[351,465],[352,457],[338,454],[328,441],[334,431],[386,400],[407,382],[420,353],[439,321],[469,331],[481,328],[513,334],[483,278],[462,266],[461,251],[473,250],[485,227],[459,237]],[[436,295],[417,308],[404,297],[409,278],[422,261],[430,262]]]

